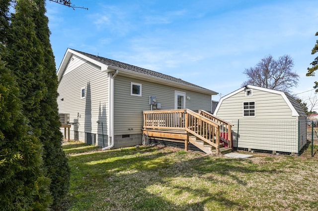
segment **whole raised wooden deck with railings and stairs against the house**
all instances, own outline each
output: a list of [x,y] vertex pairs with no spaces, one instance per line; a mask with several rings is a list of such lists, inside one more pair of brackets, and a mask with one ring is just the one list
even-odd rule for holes
[[232,125],[204,110],[190,109],[144,111],[143,135],[149,138],[163,138],[188,142],[207,154],[232,151]]

